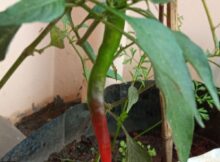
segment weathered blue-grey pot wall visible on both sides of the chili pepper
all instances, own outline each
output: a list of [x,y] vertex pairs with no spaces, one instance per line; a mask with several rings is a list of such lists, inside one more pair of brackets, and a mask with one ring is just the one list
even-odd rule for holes
[[[105,100],[109,103],[124,98],[129,84],[112,85],[105,91]],[[160,120],[158,90],[152,88],[139,97],[138,103],[129,112],[125,121],[128,131],[143,130]],[[114,109],[121,112],[120,106]],[[108,116],[110,133],[116,130],[116,122]],[[0,161],[42,162],[53,152],[60,151],[63,146],[81,136],[92,136],[90,115],[86,104],[78,104],[64,114],[44,125],[28,138],[8,152]]]

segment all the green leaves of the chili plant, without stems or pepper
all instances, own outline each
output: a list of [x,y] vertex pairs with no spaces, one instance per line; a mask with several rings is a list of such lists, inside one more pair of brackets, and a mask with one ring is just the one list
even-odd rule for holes
[[[153,3],[164,4],[171,0],[151,1]],[[119,18],[119,20],[126,20],[133,28],[135,37],[131,36],[130,33],[125,33],[118,29],[116,31],[123,32],[125,36],[134,41],[151,61],[156,84],[161,91],[161,95],[164,97],[166,115],[172,129],[172,136],[178,151],[179,160],[186,162],[192,144],[195,125],[194,119],[196,119],[201,126],[204,126],[196,108],[194,86],[187,68],[187,61],[196,69],[207,86],[215,105],[217,108],[220,108],[218,95],[205,53],[186,35],[181,32],[171,31],[155,19],[126,16],[120,9],[109,7],[95,0],[91,0],[91,2],[96,4],[93,9],[85,6],[85,2],[83,1],[82,3],[78,3],[76,1],[65,0],[21,0],[5,11],[0,12],[0,61],[5,58],[8,46],[21,24],[39,21],[51,22],[58,19],[64,14],[66,3],[72,3],[73,6],[84,8],[89,12],[86,20],[95,19],[96,21],[101,21],[112,31],[116,30],[117,27],[114,26],[115,24],[109,24],[103,19],[106,13],[114,15],[112,17]],[[140,11],[140,13],[143,13],[142,10]],[[70,13],[71,12],[68,13],[69,17],[71,17]],[[71,27],[76,33],[75,26],[72,25]],[[51,30],[51,45],[64,48],[64,38],[65,33],[54,26]],[[109,48],[111,48],[111,42],[108,43]],[[82,42],[81,47],[85,50],[91,62],[94,63],[96,55],[87,40]],[[117,49],[117,47],[115,47],[115,49]],[[110,62],[111,61],[113,60],[110,60]],[[123,78],[113,70],[109,70],[107,75],[111,78],[123,80]],[[89,71],[87,69],[87,77],[88,76]],[[137,100],[138,90],[131,86],[128,91],[127,111],[132,108]],[[127,146],[128,162],[149,161],[148,156],[145,156],[145,158],[143,158],[143,156],[137,156],[137,154],[144,154],[145,151],[128,135]]]

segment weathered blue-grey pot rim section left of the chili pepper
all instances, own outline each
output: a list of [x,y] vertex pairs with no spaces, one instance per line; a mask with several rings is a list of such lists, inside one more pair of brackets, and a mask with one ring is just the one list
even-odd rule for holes
[[42,162],[70,141],[78,140],[86,131],[89,122],[89,111],[85,104],[71,107],[32,133],[0,161]]

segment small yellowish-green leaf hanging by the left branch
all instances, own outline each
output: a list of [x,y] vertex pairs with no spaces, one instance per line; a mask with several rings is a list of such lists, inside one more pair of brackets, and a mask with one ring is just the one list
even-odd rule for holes
[[50,31],[50,44],[58,48],[64,48],[65,32],[60,30],[57,26],[54,26]]

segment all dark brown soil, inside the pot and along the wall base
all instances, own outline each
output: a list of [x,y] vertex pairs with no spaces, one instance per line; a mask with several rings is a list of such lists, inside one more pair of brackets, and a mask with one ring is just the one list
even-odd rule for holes
[[[203,95],[207,92],[205,91],[199,93],[199,95]],[[73,106],[77,103],[79,102],[74,101],[70,103],[64,103],[60,99],[58,101],[55,100],[53,103],[48,104],[39,112],[23,118],[19,123],[16,124],[16,126],[25,135],[28,136],[32,131],[38,129],[43,124],[65,112],[70,106]],[[201,129],[198,126],[196,127],[196,133],[194,135],[190,156],[197,156],[213,148],[220,147],[220,125],[218,124],[220,113],[216,113],[216,109],[210,109],[207,103],[198,104],[198,107],[208,107],[211,120],[206,122],[208,131],[206,131],[207,129]],[[131,136],[135,136],[136,134],[136,132],[133,132]],[[141,141],[144,145],[150,145],[156,149],[157,156],[153,158],[153,162],[161,161],[162,139],[160,137],[160,129],[157,129],[150,134],[144,135],[138,140]],[[95,137],[82,137],[80,142],[73,141],[69,145],[65,146],[60,152],[51,154],[46,162],[92,162],[96,156],[96,152],[97,143]],[[120,159],[118,153],[116,156]],[[114,160],[113,162],[121,161]],[[177,162],[175,148],[173,162]]]

